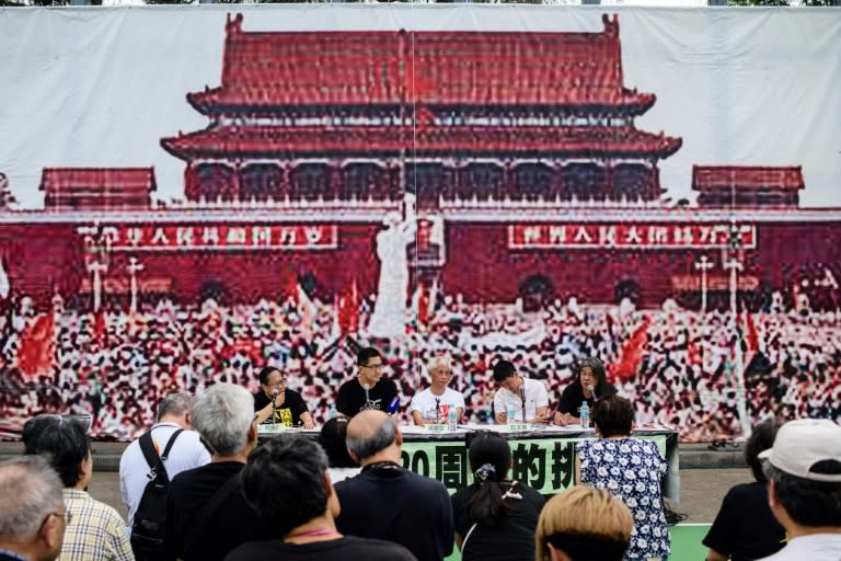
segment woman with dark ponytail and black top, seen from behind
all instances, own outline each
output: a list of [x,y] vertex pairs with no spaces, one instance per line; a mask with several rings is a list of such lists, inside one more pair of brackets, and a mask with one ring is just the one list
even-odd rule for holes
[[452,495],[461,559],[533,561],[543,495],[506,479],[511,448],[499,434],[476,434],[468,455],[475,482]]

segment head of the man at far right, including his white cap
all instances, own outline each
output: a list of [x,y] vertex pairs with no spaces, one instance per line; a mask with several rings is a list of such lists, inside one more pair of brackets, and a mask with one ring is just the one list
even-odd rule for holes
[[771,510],[791,536],[841,527],[841,426],[790,421],[759,457],[765,460]]

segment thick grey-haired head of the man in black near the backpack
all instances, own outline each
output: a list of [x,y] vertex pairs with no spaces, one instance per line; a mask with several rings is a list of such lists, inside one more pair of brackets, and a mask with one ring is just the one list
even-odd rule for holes
[[217,383],[196,398],[193,426],[212,456],[247,453],[256,442],[254,398],[245,388]]

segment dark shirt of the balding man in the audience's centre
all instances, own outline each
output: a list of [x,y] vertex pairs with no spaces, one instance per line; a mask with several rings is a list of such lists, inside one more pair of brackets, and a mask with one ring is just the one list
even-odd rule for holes
[[400,543],[419,561],[452,553],[452,505],[440,481],[403,468],[368,468],[335,488],[338,531]]

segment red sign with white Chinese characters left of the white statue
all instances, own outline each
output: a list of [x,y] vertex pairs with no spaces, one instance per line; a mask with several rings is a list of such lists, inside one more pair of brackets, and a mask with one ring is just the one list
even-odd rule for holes
[[[103,228],[112,251],[335,249],[335,225],[117,225]],[[82,233],[82,232],[80,232]]]

